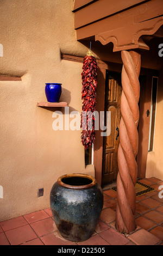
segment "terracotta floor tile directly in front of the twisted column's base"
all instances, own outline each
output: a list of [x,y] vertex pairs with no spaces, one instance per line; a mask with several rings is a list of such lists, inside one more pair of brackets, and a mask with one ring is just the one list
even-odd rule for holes
[[110,243],[110,245],[126,245],[129,242],[125,236],[121,235],[112,228],[99,233],[99,235],[102,236],[103,239],[105,239],[108,243]]

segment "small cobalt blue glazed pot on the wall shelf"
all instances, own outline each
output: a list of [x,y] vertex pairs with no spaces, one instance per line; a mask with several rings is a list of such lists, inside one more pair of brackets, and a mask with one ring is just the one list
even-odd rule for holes
[[48,102],[58,102],[61,95],[61,83],[46,83],[45,94]]

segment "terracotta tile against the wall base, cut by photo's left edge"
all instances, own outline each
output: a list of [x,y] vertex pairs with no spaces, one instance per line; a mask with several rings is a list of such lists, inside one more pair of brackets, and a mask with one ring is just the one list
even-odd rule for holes
[[27,225],[28,222],[23,218],[23,216],[21,216],[21,217],[17,217],[17,218],[12,218],[8,221],[3,221],[0,224],[1,224],[1,227],[3,228],[3,230],[7,231],[10,229],[21,227],[23,225]]

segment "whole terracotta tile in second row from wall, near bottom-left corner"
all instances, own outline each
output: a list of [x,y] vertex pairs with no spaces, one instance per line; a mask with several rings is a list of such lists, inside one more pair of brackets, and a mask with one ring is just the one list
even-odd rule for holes
[[24,225],[19,228],[11,229],[5,232],[11,245],[20,245],[23,242],[37,238],[30,225]]

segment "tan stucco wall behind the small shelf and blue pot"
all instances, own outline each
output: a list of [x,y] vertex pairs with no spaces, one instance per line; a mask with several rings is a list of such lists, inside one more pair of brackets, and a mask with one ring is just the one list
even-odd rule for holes
[[[82,111],[82,64],[60,59],[60,51],[87,47],[76,40],[73,1],[1,1],[3,57],[0,73],[22,81],[0,82],[1,169],[0,221],[49,207],[49,192],[62,174],[84,173],[80,131],[54,131],[55,110],[36,106],[47,101],[45,83],[62,83],[60,101]],[[38,188],[44,196],[37,197]]]

